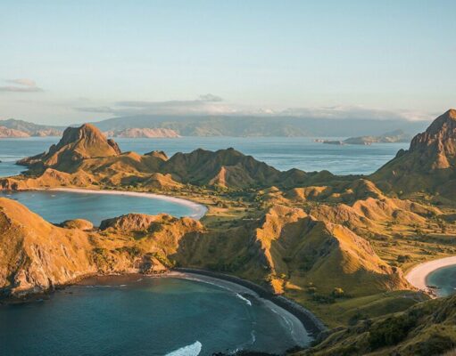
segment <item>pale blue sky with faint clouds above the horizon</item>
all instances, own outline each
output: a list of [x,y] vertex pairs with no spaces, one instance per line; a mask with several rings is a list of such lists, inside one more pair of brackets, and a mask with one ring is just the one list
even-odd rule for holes
[[428,119],[456,107],[456,1],[0,0],[0,118]]

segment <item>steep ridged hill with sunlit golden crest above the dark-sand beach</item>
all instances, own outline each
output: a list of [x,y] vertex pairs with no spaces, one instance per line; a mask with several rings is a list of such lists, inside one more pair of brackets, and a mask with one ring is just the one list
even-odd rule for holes
[[342,287],[357,296],[410,288],[366,239],[286,206],[270,208],[258,223],[183,239],[175,258],[186,266],[267,280],[276,293],[304,290],[310,283],[321,293]]

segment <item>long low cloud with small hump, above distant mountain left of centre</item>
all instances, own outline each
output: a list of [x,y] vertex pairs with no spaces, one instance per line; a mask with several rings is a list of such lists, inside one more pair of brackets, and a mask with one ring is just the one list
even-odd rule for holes
[[220,96],[211,93],[200,95],[189,101],[117,101],[112,106],[79,107],[83,112],[112,114],[114,116],[134,115],[205,115],[235,113]]

